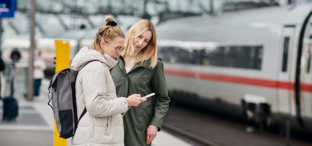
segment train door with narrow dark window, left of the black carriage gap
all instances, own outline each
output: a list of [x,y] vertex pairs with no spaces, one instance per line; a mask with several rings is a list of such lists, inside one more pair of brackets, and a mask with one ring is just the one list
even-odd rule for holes
[[281,39],[281,50],[278,59],[280,62],[278,69],[278,107],[277,110],[281,113],[291,114],[292,102],[294,97],[294,32],[295,26],[284,26]]

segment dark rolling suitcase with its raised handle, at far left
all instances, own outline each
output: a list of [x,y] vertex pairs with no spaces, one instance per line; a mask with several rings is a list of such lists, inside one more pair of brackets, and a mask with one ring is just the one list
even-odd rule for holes
[[[19,105],[16,98],[13,97],[14,92],[14,67],[11,69],[11,77],[10,77],[10,95],[6,95],[6,90],[4,91],[4,98],[2,99],[3,103],[3,121],[11,121],[14,120],[19,115]],[[6,84],[5,84],[6,85]]]

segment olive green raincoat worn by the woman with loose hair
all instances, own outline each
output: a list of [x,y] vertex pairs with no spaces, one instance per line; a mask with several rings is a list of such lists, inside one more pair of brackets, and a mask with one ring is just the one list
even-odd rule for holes
[[[112,77],[116,86],[117,97],[128,97],[139,93],[141,97],[155,92],[137,107],[131,107],[124,115],[125,146],[146,146],[146,129],[155,125],[160,131],[163,118],[169,108],[167,84],[163,64],[158,59],[155,68],[149,67],[150,60],[144,64],[135,64],[126,73],[123,58],[117,59],[117,66],[112,69]],[[151,144],[150,144],[151,146]]]

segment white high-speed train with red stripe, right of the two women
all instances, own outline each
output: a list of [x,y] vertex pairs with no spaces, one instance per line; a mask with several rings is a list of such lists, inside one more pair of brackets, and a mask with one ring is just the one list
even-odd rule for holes
[[172,101],[312,132],[312,3],[156,26]]

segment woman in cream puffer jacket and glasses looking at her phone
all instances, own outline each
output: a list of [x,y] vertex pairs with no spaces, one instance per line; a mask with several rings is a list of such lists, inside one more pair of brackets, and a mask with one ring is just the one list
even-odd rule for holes
[[118,55],[124,50],[124,33],[111,15],[105,18],[92,47],[83,47],[73,58],[71,68],[79,71],[76,79],[78,123],[72,146],[124,146],[121,113],[145,99],[139,94],[117,98],[110,74]]

